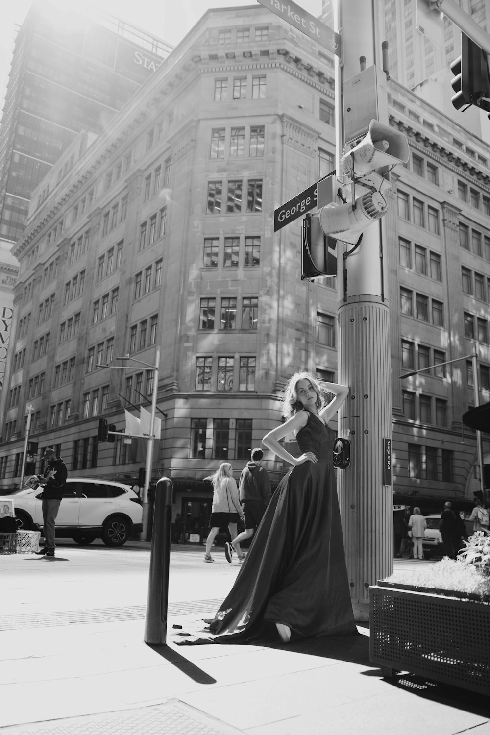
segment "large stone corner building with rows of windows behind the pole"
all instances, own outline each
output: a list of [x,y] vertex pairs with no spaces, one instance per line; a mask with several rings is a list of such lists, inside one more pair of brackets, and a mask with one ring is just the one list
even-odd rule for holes
[[[20,481],[27,404],[40,455],[56,445],[71,473],[134,481],[144,440],[98,442],[98,420],[124,432],[124,409],[156,390],[152,478],[172,478],[175,512],[203,531],[205,478],[223,461],[238,476],[281,421],[284,381],[336,379],[336,279],[300,280],[300,219],[273,232],[274,209],[334,168],[333,76],[263,7],[210,10],[96,140],[65,151],[14,249],[2,490]],[[385,218],[394,490],[464,498],[474,376],[442,363],[475,343],[489,400],[490,149],[394,81],[389,113],[411,148]],[[273,484],[289,469],[265,465]]]

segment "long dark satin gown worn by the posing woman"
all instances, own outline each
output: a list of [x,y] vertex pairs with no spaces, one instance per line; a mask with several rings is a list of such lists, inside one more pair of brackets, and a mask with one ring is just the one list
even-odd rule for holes
[[336,478],[335,433],[317,415],[298,431],[300,451],[314,452],[281,480],[228,597],[209,630],[215,642],[277,636],[356,635],[350,601]]

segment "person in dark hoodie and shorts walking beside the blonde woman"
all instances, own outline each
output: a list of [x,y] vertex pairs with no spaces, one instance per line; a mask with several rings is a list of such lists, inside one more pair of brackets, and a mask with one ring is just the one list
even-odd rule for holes
[[245,559],[240,542],[253,536],[271,498],[269,476],[267,470],[261,465],[263,456],[262,449],[253,449],[251,462],[247,462],[240,475],[238,492],[245,520],[245,531],[238,534],[231,543],[226,542],[225,544],[226,560],[230,564],[234,551],[237,552],[240,562]]

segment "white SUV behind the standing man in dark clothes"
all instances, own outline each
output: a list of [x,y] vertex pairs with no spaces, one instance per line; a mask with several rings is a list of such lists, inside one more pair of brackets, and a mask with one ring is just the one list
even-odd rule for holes
[[[43,487],[23,487],[9,495],[24,531],[43,530]],[[143,531],[140,498],[120,482],[69,477],[56,518],[56,536],[80,545],[101,538],[107,546],[122,546]]]

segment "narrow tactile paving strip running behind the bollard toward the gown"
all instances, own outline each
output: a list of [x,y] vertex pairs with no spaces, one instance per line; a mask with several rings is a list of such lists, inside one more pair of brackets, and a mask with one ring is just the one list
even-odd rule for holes
[[[179,615],[215,613],[223,600],[195,600],[170,603],[168,617]],[[73,623],[115,623],[121,620],[140,620],[145,617],[145,605],[128,607],[107,607],[88,610],[66,610],[24,615],[0,615],[0,631],[24,628],[46,628],[54,625],[73,625]]]

